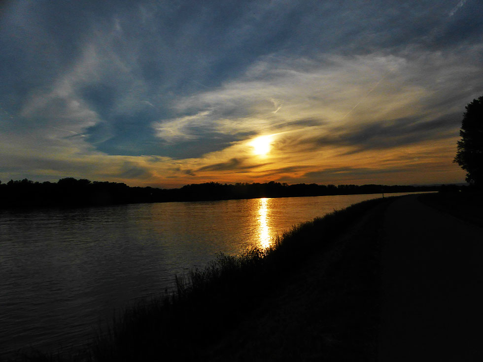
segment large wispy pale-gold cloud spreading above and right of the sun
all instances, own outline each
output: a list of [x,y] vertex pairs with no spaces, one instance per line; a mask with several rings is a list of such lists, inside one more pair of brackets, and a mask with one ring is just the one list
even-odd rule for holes
[[[469,59],[480,49],[468,49]],[[253,66],[264,69],[257,70],[256,81],[247,71],[219,90],[180,99],[175,104],[178,111],[198,113],[174,119],[169,127],[185,137],[194,122],[221,134],[276,132],[278,144],[285,146],[383,149],[454,134],[460,126],[456,110],[463,108],[482,80],[480,68],[454,52],[405,49],[399,56],[332,56],[319,64],[263,63]],[[460,91],[455,94],[453,87]],[[274,97],[285,104],[276,114]],[[240,105],[236,112],[233,104]]]

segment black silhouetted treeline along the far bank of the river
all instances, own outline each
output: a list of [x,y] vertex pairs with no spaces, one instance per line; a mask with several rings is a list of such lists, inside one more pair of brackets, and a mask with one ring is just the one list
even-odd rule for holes
[[439,191],[442,186],[318,185],[268,182],[207,182],[178,189],[130,187],[119,182],[62,178],[58,182],[28,179],[0,181],[0,207],[109,205],[137,202],[203,201],[258,197],[381,194]]

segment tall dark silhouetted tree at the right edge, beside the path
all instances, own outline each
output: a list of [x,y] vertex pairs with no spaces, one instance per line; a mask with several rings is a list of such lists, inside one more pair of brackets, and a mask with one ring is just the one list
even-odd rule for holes
[[473,99],[463,113],[461,140],[453,162],[466,171],[466,181],[476,186],[483,184],[483,96]]

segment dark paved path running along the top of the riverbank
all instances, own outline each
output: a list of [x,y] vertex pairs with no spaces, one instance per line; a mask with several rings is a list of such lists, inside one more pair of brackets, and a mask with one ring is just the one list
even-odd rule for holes
[[402,197],[387,209],[381,362],[483,361],[483,229]]

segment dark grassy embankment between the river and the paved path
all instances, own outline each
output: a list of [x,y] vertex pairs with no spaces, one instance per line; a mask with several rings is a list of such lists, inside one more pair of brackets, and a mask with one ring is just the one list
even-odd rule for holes
[[389,202],[369,200],[301,224],[266,250],[220,254],[178,277],[177,293],[126,309],[84,351],[64,358],[375,360],[379,228]]

